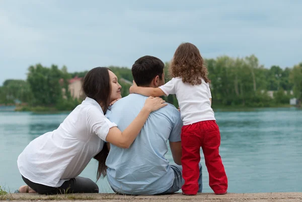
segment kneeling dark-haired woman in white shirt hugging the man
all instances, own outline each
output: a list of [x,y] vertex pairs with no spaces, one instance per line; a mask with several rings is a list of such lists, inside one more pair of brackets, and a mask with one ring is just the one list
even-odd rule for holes
[[99,192],[95,182],[78,175],[93,157],[102,162],[99,173],[106,175],[108,150],[104,142],[129,148],[150,112],[167,105],[161,98],[148,98],[137,117],[121,132],[104,115],[110,103],[121,98],[120,89],[117,77],[107,68],[87,73],[83,82],[87,98],[57,129],[33,140],[18,157],[18,168],[27,184],[19,188],[20,192]]

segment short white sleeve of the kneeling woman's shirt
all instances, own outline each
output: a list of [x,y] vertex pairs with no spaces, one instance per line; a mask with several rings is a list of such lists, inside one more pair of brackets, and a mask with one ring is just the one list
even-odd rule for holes
[[97,134],[103,141],[106,141],[109,129],[117,125],[106,118],[99,109],[91,107],[87,111],[87,126],[91,132]]

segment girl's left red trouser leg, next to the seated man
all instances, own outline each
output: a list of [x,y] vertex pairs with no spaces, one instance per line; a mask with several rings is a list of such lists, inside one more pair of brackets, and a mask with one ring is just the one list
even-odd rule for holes
[[200,137],[196,124],[185,125],[182,128],[182,173],[185,180],[182,191],[186,195],[196,195],[199,186]]

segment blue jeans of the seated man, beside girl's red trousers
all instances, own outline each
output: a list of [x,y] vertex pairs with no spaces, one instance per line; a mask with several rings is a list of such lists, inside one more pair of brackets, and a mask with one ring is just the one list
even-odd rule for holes
[[[174,182],[173,185],[163,193],[160,194],[171,194],[177,192],[181,189],[182,185],[185,183],[185,180],[182,178],[182,166],[180,165],[171,165],[171,168],[174,171]],[[199,163],[199,178],[198,178],[198,193],[202,192],[202,166]]]

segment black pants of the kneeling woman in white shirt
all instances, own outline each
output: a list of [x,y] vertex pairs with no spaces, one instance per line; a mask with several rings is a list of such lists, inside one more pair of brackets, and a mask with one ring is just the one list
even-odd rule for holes
[[60,187],[51,187],[30,181],[22,176],[23,181],[40,194],[60,193],[99,193],[98,185],[89,178],[75,177],[65,181]]

